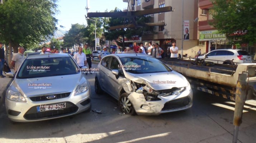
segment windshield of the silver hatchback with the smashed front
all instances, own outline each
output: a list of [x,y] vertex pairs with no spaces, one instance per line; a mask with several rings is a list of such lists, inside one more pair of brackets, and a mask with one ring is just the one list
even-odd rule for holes
[[126,72],[134,74],[171,72],[165,64],[151,57],[124,57],[120,58]]

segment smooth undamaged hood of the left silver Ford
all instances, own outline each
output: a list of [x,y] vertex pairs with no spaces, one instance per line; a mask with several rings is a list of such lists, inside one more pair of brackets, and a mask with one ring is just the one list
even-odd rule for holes
[[[26,97],[32,97],[37,95],[72,92],[81,80],[86,81],[82,74],[72,74],[42,78],[15,79],[12,84],[18,91],[25,94]],[[42,86],[29,86],[29,84],[42,84]],[[43,86],[43,84],[51,85]]]

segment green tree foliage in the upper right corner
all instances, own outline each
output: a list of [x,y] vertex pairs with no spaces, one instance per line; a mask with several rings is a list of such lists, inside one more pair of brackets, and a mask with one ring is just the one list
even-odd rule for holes
[[[211,23],[233,43],[256,43],[256,0],[212,0],[214,7]],[[245,35],[231,36],[235,31],[245,31]],[[234,39],[241,39],[236,41]]]

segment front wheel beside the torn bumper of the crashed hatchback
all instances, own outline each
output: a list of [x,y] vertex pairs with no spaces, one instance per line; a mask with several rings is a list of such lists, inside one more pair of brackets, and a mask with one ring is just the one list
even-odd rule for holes
[[119,97],[118,103],[119,103],[121,112],[123,112],[127,115],[135,115],[136,114],[131,101],[128,99],[127,93],[121,94],[121,96]]

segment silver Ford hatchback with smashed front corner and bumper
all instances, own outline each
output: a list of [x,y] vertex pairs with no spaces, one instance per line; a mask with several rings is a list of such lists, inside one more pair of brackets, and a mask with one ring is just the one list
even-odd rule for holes
[[188,80],[145,54],[110,54],[98,64],[95,92],[107,92],[129,115],[159,115],[192,107]]

